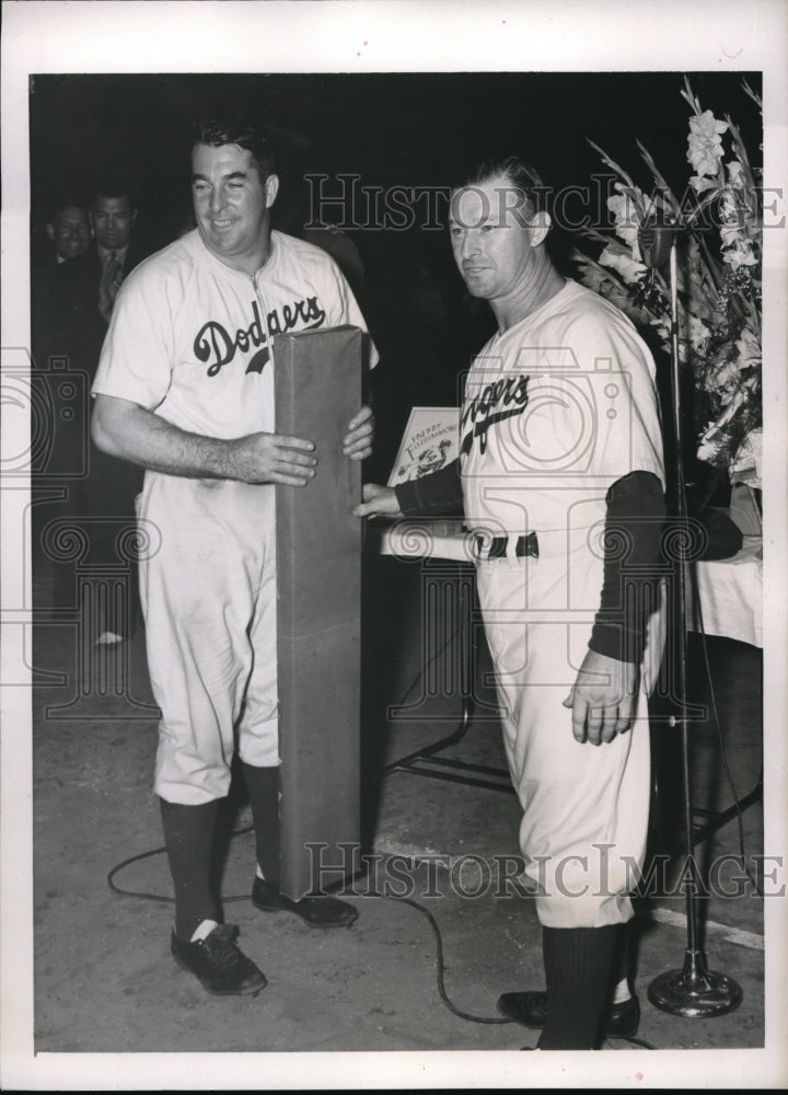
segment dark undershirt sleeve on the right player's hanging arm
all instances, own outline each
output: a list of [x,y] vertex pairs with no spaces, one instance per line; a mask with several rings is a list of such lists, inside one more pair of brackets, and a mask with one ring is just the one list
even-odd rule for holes
[[631,472],[607,492],[600,609],[589,646],[616,661],[639,662],[656,606],[656,570],[665,516],[662,484]]

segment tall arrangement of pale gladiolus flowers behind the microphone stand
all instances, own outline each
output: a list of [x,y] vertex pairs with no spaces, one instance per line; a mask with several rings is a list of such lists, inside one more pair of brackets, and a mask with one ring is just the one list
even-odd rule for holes
[[[763,111],[760,97],[744,91]],[[761,256],[762,216],[757,169],[751,164],[739,129],[729,116],[704,111],[684,80],[691,108],[686,159],[694,171],[681,199],[637,141],[653,180],[646,194],[599,146],[615,172],[607,199],[613,227],[587,229],[602,245],[596,258],[575,251],[579,279],[607,297],[636,324],[654,328],[670,349],[670,286],[667,275],[648,269],[638,246],[638,228],[659,216],[677,226],[679,347],[692,374],[692,429],[697,459],[733,475],[745,454],[758,451],[761,430]]]

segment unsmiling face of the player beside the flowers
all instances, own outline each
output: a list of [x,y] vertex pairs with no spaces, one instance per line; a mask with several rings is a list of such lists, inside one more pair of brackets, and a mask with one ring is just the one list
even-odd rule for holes
[[455,191],[449,219],[454,261],[474,297],[498,300],[528,286],[533,228],[522,195],[503,177]]

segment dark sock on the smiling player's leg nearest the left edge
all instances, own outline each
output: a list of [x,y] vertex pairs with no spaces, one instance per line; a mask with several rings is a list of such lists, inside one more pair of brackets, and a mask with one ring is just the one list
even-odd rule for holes
[[163,798],[160,803],[175,888],[175,934],[187,943],[204,920],[219,920],[210,888],[217,803],[183,806]]

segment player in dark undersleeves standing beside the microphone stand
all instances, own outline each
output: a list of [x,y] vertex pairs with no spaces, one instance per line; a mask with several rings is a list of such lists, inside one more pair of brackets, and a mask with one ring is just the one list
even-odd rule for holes
[[505,993],[499,1010],[543,1027],[542,1049],[591,1049],[639,1019],[614,968],[646,851],[664,473],[651,355],[554,267],[540,185],[512,158],[453,194],[455,261],[498,322],[467,377],[461,456],[368,485],[357,514],[462,502],[543,925],[546,994]]

